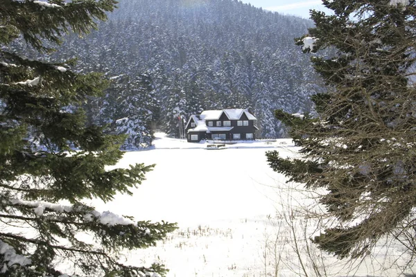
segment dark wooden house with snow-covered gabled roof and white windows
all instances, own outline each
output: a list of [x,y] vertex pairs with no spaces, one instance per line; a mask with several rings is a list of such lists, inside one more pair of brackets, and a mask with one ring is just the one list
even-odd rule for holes
[[259,129],[256,120],[248,109],[202,111],[189,118],[185,126],[187,140],[195,143],[203,139],[254,140]]

